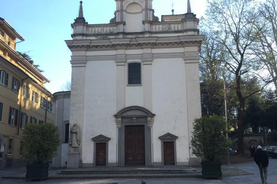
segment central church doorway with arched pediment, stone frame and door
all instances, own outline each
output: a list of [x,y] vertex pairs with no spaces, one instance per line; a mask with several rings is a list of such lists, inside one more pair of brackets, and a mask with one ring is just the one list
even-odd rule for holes
[[118,132],[118,165],[152,165],[152,112],[144,107],[130,106],[118,111],[115,123]]

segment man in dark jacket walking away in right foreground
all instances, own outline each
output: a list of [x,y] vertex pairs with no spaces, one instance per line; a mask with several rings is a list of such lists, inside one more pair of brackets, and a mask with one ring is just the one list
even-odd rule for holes
[[266,152],[262,151],[261,146],[257,147],[258,150],[254,154],[254,160],[260,169],[261,182],[267,184],[267,167],[268,167],[268,157]]

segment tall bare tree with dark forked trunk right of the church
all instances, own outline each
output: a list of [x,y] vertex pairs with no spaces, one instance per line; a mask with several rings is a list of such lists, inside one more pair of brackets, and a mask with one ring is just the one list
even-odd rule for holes
[[[208,0],[206,27],[212,32],[212,40],[222,46],[223,62],[232,74],[238,98],[238,153],[244,154],[245,99],[262,90],[242,92],[241,78],[247,70],[255,72],[251,57],[251,45],[259,38],[261,29],[254,29],[259,14],[254,0]],[[221,48],[221,47],[219,47]],[[255,69],[254,69],[255,68]]]

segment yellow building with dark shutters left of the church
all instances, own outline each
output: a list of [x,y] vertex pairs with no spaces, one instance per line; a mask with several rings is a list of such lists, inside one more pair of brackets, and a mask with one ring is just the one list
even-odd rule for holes
[[24,39],[0,17],[0,169],[24,167],[21,136],[26,123],[55,120],[49,80],[16,52]]

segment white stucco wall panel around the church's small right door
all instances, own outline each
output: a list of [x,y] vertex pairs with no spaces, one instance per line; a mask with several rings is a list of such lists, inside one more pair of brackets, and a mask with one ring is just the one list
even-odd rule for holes
[[162,162],[160,136],[177,137],[177,162],[189,158],[187,132],[186,77],[183,58],[153,60],[153,161]]

